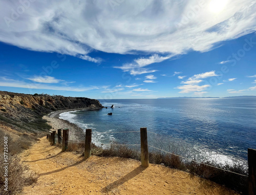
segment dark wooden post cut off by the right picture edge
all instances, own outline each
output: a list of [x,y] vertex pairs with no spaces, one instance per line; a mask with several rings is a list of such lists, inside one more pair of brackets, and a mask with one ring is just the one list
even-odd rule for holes
[[256,149],[248,148],[248,194],[256,195]]

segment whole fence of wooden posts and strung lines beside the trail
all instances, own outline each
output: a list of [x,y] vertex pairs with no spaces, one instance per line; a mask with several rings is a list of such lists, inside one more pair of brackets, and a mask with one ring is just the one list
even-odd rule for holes
[[[47,135],[47,139],[52,143],[52,145],[56,144],[55,141],[55,136],[58,136],[58,143],[60,143],[60,139],[62,141],[62,151],[65,151],[68,148],[68,143],[76,143],[76,144],[84,144],[85,148],[84,148],[84,159],[87,159],[91,156],[91,143],[92,143],[92,134],[127,134],[127,133],[139,133],[140,132],[140,144],[102,144],[102,145],[110,145],[110,146],[141,146],[141,165],[144,167],[148,167],[149,166],[149,155],[148,155],[148,148],[154,148],[160,151],[163,151],[166,154],[170,154],[170,155],[174,155],[176,157],[179,157],[181,159],[186,159],[189,160],[191,162],[195,162],[197,164],[202,164],[208,167],[212,167],[212,168],[216,168],[225,172],[229,172],[230,174],[235,174],[241,177],[246,177],[248,178],[249,181],[249,191],[253,191],[254,189],[250,189],[251,186],[255,186],[256,182],[255,182],[255,178],[256,178],[256,150],[255,149],[250,149],[248,148],[248,176],[244,175],[244,174],[239,174],[238,172],[234,172],[231,170],[227,170],[224,168],[220,168],[217,166],[212,166],[203,162],[199,162],[196,161],[194,159],[191,158],[187,158],[181,155],[177,155],[174,153],[171,153],[169,151],[166,151],[165,149],[161,149],[159,147],[155,147],[151,144],[147,143],[147,132],[150,134],[154,134],[154,135],[159,135],[162,136],[158,133],[154,133],[151,131],[147,131],[147,129],[145,127],[140,128],[140,131],[127,131],[127,132],[97,132],[97,133],[92,133],[92,129],[86,129],[86,136],[85,136],[85,141],[84,142],[79,142],[79,141],[74,141],[74,140],[69,140],[69,129],[63,129],[62,130],[62,137],[61,137],[61,131],[59,131],[61,129],[58,129],[58,134],[60,133],[60,135],[56,135],[56,131],[53,131],[53,133],[48,134]],[[71,133],[70,135],[74,135],[73,133]],[[175,139],[173,137],[170,136],[165,136],[165,138],[172,138]],[[180,140],[180,139],[178,139]],[[184,140],[180,140],[180,141],[184,141]]]

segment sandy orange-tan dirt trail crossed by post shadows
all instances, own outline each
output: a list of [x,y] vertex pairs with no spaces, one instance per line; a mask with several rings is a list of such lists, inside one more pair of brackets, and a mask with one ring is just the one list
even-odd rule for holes
[[92,156],[84,161],[61,153],[41,138],[22,154],[24,163],[39,174],[37,183],[22,194],[235,194],[225,187],[187,172],[123,158]]

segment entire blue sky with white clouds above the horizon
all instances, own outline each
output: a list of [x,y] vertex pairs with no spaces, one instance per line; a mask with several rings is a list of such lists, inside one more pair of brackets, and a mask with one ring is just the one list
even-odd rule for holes
[[0,90],[256,95],[256,1],[2,0]]

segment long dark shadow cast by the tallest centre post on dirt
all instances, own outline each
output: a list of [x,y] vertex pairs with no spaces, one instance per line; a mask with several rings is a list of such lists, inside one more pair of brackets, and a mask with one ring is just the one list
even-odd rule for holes
[[125,176],[123,176],[122,178],[120,178],[119,180],[105,186],[104,188],[101,189],[101,192],[110,192],[112,189],[117,188],[118,186],[122,185],[123,183],[125,183],[126,181],[131,180],[132,178],[136,177],[137,175],[139,175],[143,170],[145,170],[146,167],[143,166],[138,166],[137,168],[135,168],[133,171],[129,172],[129,174],[126,174]]

